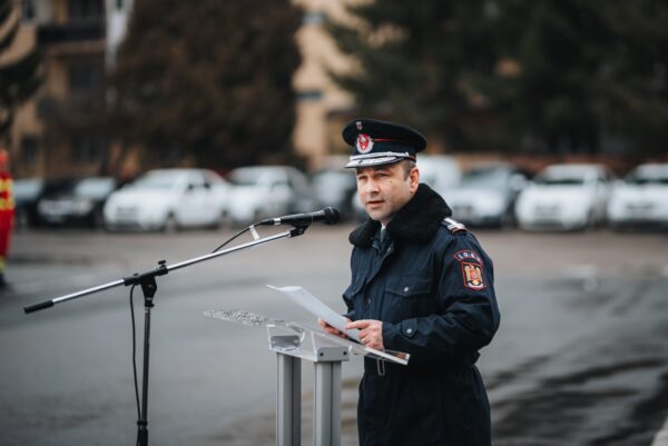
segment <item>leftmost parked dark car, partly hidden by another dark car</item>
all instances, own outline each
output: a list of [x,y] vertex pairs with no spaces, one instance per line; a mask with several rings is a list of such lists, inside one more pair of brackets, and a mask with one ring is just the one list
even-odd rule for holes
[[70,189],[72,180],[20,178],[13,181],[12,195],[14,199],[14,225],[18,230],[42,225],[37,210],[39,200],[45,196],[58,194],[60,190]]

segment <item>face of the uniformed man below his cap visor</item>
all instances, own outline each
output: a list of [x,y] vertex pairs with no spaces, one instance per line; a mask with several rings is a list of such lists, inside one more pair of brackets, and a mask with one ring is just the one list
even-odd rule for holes
[[387,225],[418,190],[420,172],[406,176],[404,162],[357,169],[357,196],[372,220]]

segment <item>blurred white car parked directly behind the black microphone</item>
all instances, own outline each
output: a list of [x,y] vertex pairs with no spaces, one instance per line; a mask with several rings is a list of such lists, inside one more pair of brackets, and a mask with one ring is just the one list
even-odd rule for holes
[[250,166],[229,172],[228,217],[234,224],[317,210],[306,176],[291,166]]

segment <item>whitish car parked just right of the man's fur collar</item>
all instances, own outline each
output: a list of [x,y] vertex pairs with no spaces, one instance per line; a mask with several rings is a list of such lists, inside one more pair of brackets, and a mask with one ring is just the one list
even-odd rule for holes
[[514,204],[529,175],[508,162],[478,163],[452,189],[448,205],[455,220],[471,226],[512,226]]

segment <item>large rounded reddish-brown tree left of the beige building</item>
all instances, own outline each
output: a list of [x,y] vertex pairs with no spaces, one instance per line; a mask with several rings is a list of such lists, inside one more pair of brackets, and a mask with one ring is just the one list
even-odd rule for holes
[[116,131],[147,161],[281,159],[295,121],[301,11],[288,0],[138,0],[118,59]]

